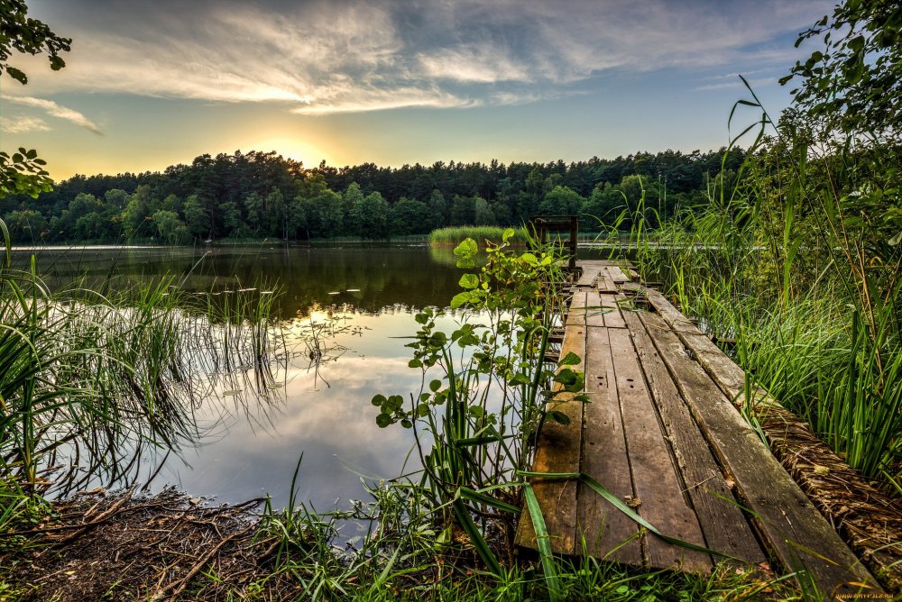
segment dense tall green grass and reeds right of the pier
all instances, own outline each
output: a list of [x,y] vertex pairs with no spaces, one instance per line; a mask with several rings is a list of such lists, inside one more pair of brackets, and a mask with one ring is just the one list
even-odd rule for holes
[[719,175],[707,205],[640,245],[643,269],[735,339],[743,368],[853,468],[897,488],[902,246],[881,223],[898,202],[897,151],[815,149],[792,123],[770,138],[766,113],[759,123],[739,177]]

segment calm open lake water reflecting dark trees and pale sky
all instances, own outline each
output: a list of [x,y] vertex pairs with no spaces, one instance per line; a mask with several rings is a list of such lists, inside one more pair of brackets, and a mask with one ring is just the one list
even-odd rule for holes
[[[25,260],[35,251],[15,252]],[[268,399],[242,388],[210,399],[198,409],[204,436],[166,461],[148,458],[139,483],[156,472],[153,489],[176,485],[223,502],[268,493],[281,506],[303,454],[299,497],[326,511],[365,497],[361,479],[391,479],[419,466],[412,433],[376,426],[370,399],[419,391],[421,373],[408,367],[411,350],[403,337],[417,331],[419,309],[446,309],[459,292],[464,270],[450,249],[83,248],[37,251],[37,261],[51,286],[79,276],[89,286],[109,278],[124,286],[131,278],[169,274],[204,294],[259,286],[282,291],[277,317],[290,354],[277,370],[277,388]],[[438,323],[446,331],[455,324],[450,312]],[[323,351],[318,362],[310,358],[314,342]]]

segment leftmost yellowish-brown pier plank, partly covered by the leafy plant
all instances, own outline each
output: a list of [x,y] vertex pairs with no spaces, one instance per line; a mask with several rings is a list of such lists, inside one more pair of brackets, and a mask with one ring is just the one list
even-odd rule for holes
[[[584,298],[583,294],[583,298]],[[571,315],[573,312],[571,311]],[[575,366],[583,369],[585,358],[585,327],[568,325],[565,329],[561,355],[574,352],[582,360]],[[583,402],[573,401],[574,394],[557,394],[548,403],[550,409],[563,412],[569,424],[547,420],[538,433],[534,472],[578,472],[583,433]],[[532,479],[539,507],[545,519],[551,547],[555,552],[576,552],[576,485],[575,480]],[[524,508],[517,530],[517,543],[536,548],[536,532],[529,511]]]

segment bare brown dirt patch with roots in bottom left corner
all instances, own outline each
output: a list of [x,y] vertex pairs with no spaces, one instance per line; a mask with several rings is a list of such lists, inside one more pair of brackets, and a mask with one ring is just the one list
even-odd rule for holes
[[255,536],[261,501],[205,507],[166,489],[55,502],[40,524],[2,534],[0,600],[297,597],[296,581],[264,579],[275,541]]

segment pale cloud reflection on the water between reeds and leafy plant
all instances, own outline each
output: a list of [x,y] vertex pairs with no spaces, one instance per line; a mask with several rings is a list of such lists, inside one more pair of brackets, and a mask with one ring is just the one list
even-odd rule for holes
[[229,420],[223,436],[186,452],[190,467],[170,464],[156,485],[175,482],[193,495],[223,501],[270,493],[277,506],[283,505],[303,453],[299,497],[327,510],[336,500],[346,506],[348,499],[364,497],[356,470],[367,477],[398,476],[413,433],[400,426],[379,428],[378,410],[370,399],[377,393],[406,398],[419,391],[421,373],[407,365],[411,350],[404,345],[410,341],[391,338],[410,336],[417,324],[410,314],[344,317],[345,324],[358,328],[324,341],[349,349],[337,360],[321,364],[320,375],[329,387],[322,380],[315,386],[318,377],[308,369],[306,358],[295,358],[288,370],[285,402],[272,415],[272,427],[261,428],[244,418]]

